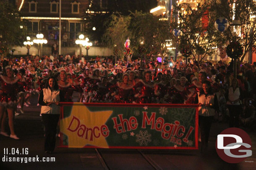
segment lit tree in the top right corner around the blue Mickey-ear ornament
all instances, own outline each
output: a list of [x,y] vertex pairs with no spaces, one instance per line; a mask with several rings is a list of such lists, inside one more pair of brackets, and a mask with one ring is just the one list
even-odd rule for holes
[[[235,8],[233,8],[235,4]],[[243,61],[249,51],[255,51],[256,46],[256,1],[255,0],[212,0],[212,11],[215,18],[225,17],[229,23],[235,19],[241,22],[240,37],[232,36],[231,27],[224,33],[217,33],[217,36],[223,37],[223,44],[230,41],[239,41],[244,47],[244,53],[240,58]]]

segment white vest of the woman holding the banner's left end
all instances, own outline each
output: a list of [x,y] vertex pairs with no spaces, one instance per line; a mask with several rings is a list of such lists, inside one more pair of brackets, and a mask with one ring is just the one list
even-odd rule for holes
[[60,114],[59,106],[56,104],[47,106],[45,105],[47,102],[60,102],[60,89],[51,91],[49,87],[47,89],[44,88],[39,96],[39,104],[42,105],[41,114]]

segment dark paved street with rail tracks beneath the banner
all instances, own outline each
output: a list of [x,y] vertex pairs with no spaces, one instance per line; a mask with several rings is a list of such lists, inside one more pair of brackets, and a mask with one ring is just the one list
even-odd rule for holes
[[[76,98],[77,94],[75,94]],[[56,148],[53,154],[44,153],[44,130],[37,97],[31,106],[24,107],[24,114],[15,118],[16,134],[21,140],[0,135],[0,170],[255,170],[256,134],[246,131],[252,140],[252,156],[238,164],[229,164],[219,158],[215,150],[217,134],[228,128],[225,123],[214,122],[211,128],[209,148],[199,150],[125,150]],[[75,100],[74,100],[75,101]],[[6,124],[8,125],[8,123]],[[8,127],[6,127],[8,129]],[[8,131],[7,131],[8,132]],[[10,132],[8,132],[10,133]],[[57,140],[58,145],[59,140]],[[200,142],[199,142],[200,147]],[[19,148],[19,154],[7,157],[39,157],[39,162],[3,162],[4,148]],[[28,148],[28,155],[22,155]],[[43,162],[43,157],[53,157],[55,162]],[[23,160],[23,161],[24,161]],[[41,162],[40,162],[41,160]]]

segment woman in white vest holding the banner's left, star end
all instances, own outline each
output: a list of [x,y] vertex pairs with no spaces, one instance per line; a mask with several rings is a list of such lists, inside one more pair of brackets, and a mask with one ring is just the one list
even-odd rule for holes
[[57,124],[60,118],[59,102],[64,99],[54,76],[50,76],[39,95],[41,114],[45,127],[44,152],[52,153],[55,148]]

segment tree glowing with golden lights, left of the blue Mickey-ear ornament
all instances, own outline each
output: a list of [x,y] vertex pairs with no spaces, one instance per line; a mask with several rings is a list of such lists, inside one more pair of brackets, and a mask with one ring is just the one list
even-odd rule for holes
[[170,25],[171,31],[176,29],[182,32],[178,37],[172,35],[172,40],[178,43],[178,50],[183,55],[191,54],[198,63],[216,52],[215,47],[219,41],[210,3],[199,3],[193,9],[189,3],[177,5],[173,14],[178,16],[178,20],[172,20]]

